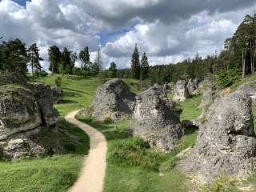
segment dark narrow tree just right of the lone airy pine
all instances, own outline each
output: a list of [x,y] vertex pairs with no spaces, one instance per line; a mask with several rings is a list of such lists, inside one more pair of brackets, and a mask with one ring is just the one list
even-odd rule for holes
[[58,74],[60,64],[62,62],[62,52],[58,49],[58,46],[50,46],[48,49],[50,67],[49,70],[52,74]]

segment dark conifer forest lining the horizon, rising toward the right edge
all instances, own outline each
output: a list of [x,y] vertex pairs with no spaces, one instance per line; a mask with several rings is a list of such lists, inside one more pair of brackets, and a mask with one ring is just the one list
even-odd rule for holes
[[[137,52],[136,46],[134,52]],[[135,62],[134,62],[135,61]],[[152,83],[177,82],[178,79],[204,78],[216,74],[222,86],[230,86],[236,78],[254,74],[256,61],[256,14],[246,15],[232,38],[224,42],[221,53],[169,65],[150,66],[148,79]],[[134,65],[134,63],[136,63]],[[138,57],[132,56],[130,70],[118,70],[118,78],[138,78]]]

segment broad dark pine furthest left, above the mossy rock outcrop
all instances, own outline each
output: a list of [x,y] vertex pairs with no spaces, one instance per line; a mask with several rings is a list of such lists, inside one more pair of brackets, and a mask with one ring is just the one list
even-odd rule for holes
[[26,44],[18,38],[10,39],[4,44],[6,45],[6,70],[26,76],[28,62]]

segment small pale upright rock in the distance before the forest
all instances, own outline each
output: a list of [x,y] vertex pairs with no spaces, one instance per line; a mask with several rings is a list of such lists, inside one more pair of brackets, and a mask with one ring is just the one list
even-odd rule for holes
[[187,82],[185,80],[180,80],[176,83],[174,87],[174,98],[175,102],[184,102],[189,96],[189,90],[187,89]]

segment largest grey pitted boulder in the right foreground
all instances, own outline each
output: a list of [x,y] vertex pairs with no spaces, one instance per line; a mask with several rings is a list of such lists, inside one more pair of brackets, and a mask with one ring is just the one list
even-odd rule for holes
[[255,154],[251,99],[238,90],[210,106],[190,158],[180,167],[205,182],[223,173],[245,178],[254,168]]

